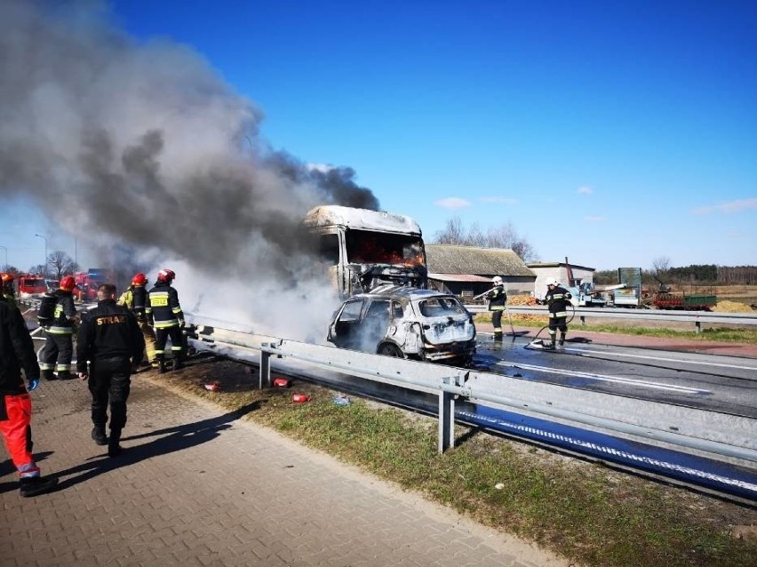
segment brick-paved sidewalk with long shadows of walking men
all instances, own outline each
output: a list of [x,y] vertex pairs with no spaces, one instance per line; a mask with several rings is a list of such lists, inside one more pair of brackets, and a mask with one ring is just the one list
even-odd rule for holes
[[567,565],[156,377],[132,380],[116,459],[90,438],[84,382],[32,396],[36,458],[60,486],[20,498],[3,453],[4,566]]

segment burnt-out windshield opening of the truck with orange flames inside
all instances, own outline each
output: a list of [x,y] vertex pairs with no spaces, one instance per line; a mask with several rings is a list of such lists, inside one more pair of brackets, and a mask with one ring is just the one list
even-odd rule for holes
[[352,264],[423,266],[426,263],[420,236],[389,235],[371,230],[349,230],[345,235],[347,261]]

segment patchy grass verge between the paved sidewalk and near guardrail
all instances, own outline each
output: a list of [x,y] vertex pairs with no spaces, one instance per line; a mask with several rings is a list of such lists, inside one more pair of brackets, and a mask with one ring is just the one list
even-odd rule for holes
[[[251,419],[418,491],[479,523],[520,536],[571,563],[607,567],[755,565],[757,540],[735,539],[757,510],[657,483],[466,427],[458,446],[436,452],[436,420],[297,384],[257,391],[250,371],[219,360],[168,375],[171,385],[227,410],[255,403]],[[219,392],[203,389],[218,380]]]

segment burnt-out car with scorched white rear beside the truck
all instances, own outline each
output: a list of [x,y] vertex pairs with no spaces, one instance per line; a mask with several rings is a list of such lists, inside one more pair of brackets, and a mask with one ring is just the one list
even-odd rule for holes
[[329,325],[337,347],[467,365],[475,353],[473,315],[454,295],[382,285],[346,299]]

